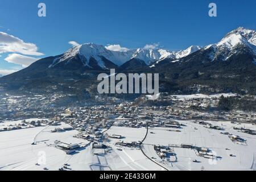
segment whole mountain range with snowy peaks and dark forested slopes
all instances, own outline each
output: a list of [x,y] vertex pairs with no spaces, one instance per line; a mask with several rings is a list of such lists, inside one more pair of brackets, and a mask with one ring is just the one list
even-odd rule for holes
[[93,43],[46,57],[0,78],[0,89],[32,93],[96,92],[97,75],[115,68],[124,73],[159,73],[160,91],[255,94],[256,32],[239,27],[220,42],[183,51],[110,51]]

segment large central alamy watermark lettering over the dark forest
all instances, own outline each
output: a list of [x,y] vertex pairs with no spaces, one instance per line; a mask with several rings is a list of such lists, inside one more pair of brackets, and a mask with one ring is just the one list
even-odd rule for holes
[[[154,94],[159,93],[159,74],[155,73],[115,73],[110,69],[110,75],[101,73],[98,75],[98,93],[100,94]],[[118,81],[118,82],[117,82]],[[116,84],[117,82],[117,84]],[[153,83],[154,82],[154,83]],[[154,85],[154,86],[153,86]],[[154,88],[153,88],[154,87]]]

